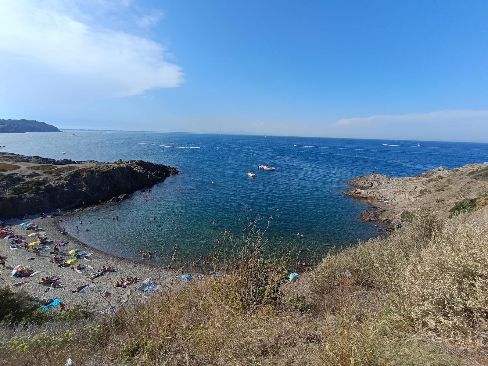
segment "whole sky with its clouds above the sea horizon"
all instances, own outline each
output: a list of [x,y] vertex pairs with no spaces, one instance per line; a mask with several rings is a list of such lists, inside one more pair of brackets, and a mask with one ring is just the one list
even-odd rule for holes
[[0,118],[488,141],[486,1],[5,0]]

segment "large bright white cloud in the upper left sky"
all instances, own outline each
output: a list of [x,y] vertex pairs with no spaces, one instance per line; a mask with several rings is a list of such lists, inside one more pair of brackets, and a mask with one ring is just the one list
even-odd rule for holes
[[[0,1],[0,97],[83,102],[180,85],[182,70],[166,61],[163,45],[116,29],[129,5],[116,0]],[[115,13],[105,18],[106,24],[100,9]],[[161,17],[129,14],[122,22],[134,19],[134,27],[148,27]]]

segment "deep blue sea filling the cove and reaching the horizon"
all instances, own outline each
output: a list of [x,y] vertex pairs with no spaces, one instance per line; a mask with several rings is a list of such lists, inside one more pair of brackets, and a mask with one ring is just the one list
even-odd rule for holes
[[[488,144],[417,143],[105,131],[0,135],[6,152],[72,160],[142,159],[177,167],[180,174],[154,186],[147,203],[146,193],[137,192],[83,213],[82,225],[77,217],[64,222],[82,241],[136,259],[140,249],[167,258],[173,244],[186,259],[208,253],[227,227],[234,235],[242,233],[246,216],[263,218],[260,228],[269,225],[265,238],[270,250],[297,246],[306,257],[321,255],[333,245],[381,234],[359,220],[367,206],[343,195],[347,179],[373,170],[406,176],[439,165],[454,168],[488,160]],[[258,169],[262,163],[276,171]],[[254,179],[246,175],[249,170],[256,173]],[[120,220],[113,221],[112,215]],[[156,221],[149,222],[153,217]],[[182,230],[175,230],[176,225]]]

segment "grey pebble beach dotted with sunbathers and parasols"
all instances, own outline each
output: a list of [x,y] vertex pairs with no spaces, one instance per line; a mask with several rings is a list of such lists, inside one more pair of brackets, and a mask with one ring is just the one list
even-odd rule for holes
[[[61,299],[67,308],[70,308],[74,304],[80,304],[88,305],[90,308],[100,311],[112,306],[119,308],[123,303],[126,303],[134,297],[136,293],[142,294],[140,291],[137,291],[137,288],[146,278],[157,278],[158,285],[161,285],[162,287],[171,287],[173,289],[178,288],[185,282],[181,279],[181,271],[166,270],[161,266],[137,263],[115,257],[83,244],[81,241],[69,235],[60,234],[59,220],[62,220],[62,218],[62,216],[57,216],[55,218],[29,220],[30,223],[43,227],[45,229],[44,231],[47,233],[47,237],[52,240],[51,243],[47,244],[50,247],[50,250],[46,250],[40,255],[36,255],[32,251],[26,251],[23,247],[10,250],[10,240],[0,239],[0,242],[2,242],[0,254],[7,257],[5,263],[6,267],[0,267],[0,285],[7,285],[13,290],[23,289],[31,295],[41,296],[41,299],[57,297]],[[7,222],[7,224],[14,230],[15,234],[27,238],[27,235],[33,231],[20,226],[19,224],[21,223],[22,221],[20,220]],[[52,252],[54,244],[66,241],[69,243],[61,247],[64,252],[61,256],[66,260],[72,258],[72,255],[68,254],[71,249],[87,250],[89,253],[92,252],[93,254],[88,258],[89,261],[80,259],[80,263],[83,265],[90,265],[93,269],[90,269],[90,271],[85,273],[78,273],[75,271],[76,264],[70,267],[59,268],[56,264],[49,262],[49,259],[54,257],[53,254],[49,254],[49,252]],[[28,260],[28,258],[33,259]],[[12,269],[19,264],[30,266],[34,271],[42,272],[27,278],[12,277]],[[91,281],[89,274],[96,272],[97,269],[101,268],[103,265],[110,265],[116,270]],[[41,278],[46,276],[60,276],[61,287],[52,288],[47,285],[39,284]],[[127,285],[125,288],[116,288],[114,286],[117,280],[127,276],[137,277],[139,281],[133,285]],[[29,281],[29,283],[14,286],[15,283],[22,281]],[[88,287],[81,293],[72,292],[74,289],[82,285],[88,285]],[[103,290],[108,290],[112,295],[109,297],[100,297],[100,293]],[[147,295],[150,296],[149,294]]]

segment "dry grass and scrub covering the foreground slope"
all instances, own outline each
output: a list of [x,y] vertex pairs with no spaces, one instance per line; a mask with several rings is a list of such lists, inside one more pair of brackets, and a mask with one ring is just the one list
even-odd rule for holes
[[[215,256],[220,277],[169,285],[103,318],[4,325],[7,365],[483,365],[488,228],[428,212],[287,280],[262,235]],[[239,250],[238,250],[239,249]],[[293,270],[293,267],[292,267]]]

